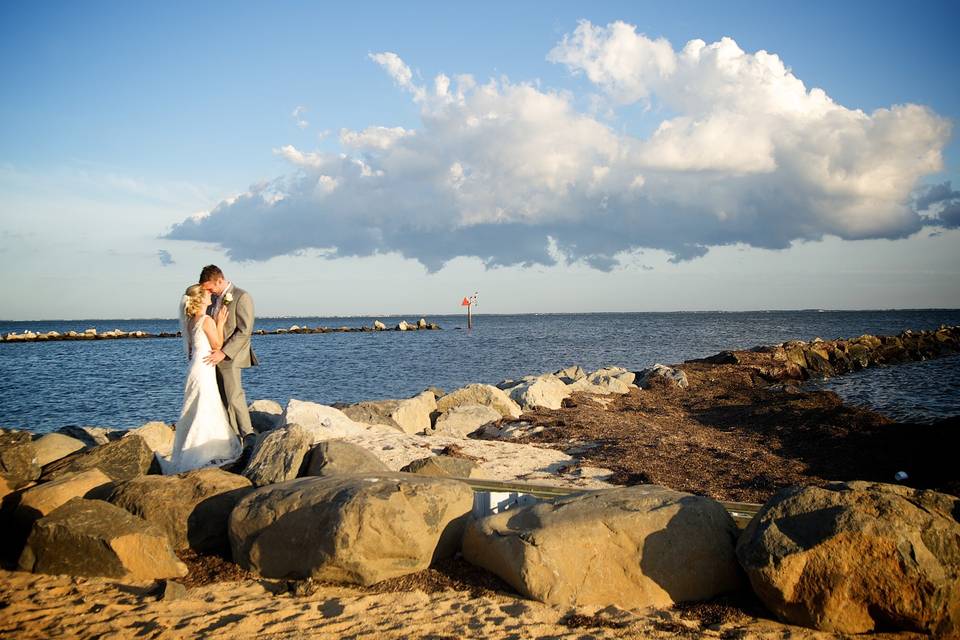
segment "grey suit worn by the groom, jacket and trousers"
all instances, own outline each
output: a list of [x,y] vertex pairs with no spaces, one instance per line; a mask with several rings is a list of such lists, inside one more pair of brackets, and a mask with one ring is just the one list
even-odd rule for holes
[[[257,356],[250,346],[253,334],[253,298],[249,293],[231,285],[224,292],[233,295],[227,303],[227,322],[223,327],[223,346],[220,348],[224,358],[217,365],[217,385],[220,398],[227,409],[230,426],[241,438],[256,433],[250,424],[250,411],[247,409],[247,397],[243,392],[241,371],[258,364]],[[210,305],[209,313],[217,308],[219,300]],[[222,304],[222,302],[221,302]]]

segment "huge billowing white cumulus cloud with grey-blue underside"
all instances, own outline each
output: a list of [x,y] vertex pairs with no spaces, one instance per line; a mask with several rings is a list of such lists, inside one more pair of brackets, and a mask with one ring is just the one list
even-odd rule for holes
[[[929,223],[913,190],[940,170],[950,134],[923,106],[839,105],[730,38],[674,50],[622,22],[582,22],[548,59],[611,104],[662,107],[670,116],[645,138],[578,111],[566,91],[445,74],[421,85],[397,54],[370,59],[419,105],[419,127],[344,129],[341,153],[282,147],[289,175],[167,237],[239,260],[399,252],[431,270],[457,256],[528,265],[562,253],[609,269],[640,247],[685,260],[734,243],[900,238]],[[939,202],[948,224],[958,201]]]

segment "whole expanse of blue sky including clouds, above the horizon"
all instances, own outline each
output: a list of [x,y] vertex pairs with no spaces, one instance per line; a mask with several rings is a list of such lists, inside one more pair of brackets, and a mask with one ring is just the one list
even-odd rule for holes
[[[0,317],[170,316],[208,262],[261,315],[456,312],[473,290],[488,312],[955,307],[958,18],[955,2],[4,3]],[[736,48],[711,49],[724,37]],[[746,75],[717,71],[730,55]],[[874,113],[904,104],[923,109]],[[456,134],[484,113],[500,124]]]

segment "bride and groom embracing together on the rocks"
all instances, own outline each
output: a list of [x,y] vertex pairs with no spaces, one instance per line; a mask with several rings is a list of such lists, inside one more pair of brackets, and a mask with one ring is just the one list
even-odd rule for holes
[[241,381],[257,364],[253,298],[207,265],[180,301],[180,331],[189,364],[167,475],[233,462],[256,435]]

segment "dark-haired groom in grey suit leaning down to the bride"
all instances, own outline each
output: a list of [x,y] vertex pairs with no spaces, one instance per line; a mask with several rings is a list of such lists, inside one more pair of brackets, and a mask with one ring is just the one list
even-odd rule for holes
[[250,335],[253,333],[253,298],[224,278],[223,271],[212,264],[200,272],[200,286],[209,291],[212,297],[212,303],[207,309],[209,315],[216,318],[220,308],[223,305],[227,307],[223,346],[207,356],[204,362],[216,365],[217,385],[220,387],[220,398],[227,409],[230,426],[241,440],[246,440],[247,436],[256,435],[250,425],[247,397],[240,381],[241,371],[257,364],[257,356],[250,347]]

